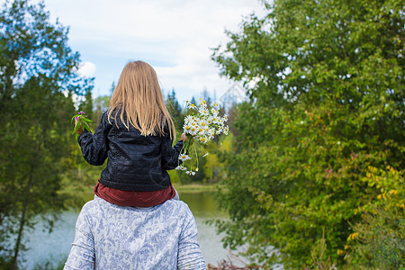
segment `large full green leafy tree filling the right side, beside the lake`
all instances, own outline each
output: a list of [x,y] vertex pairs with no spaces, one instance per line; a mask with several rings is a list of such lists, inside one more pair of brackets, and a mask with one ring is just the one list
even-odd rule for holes
[[[361,265],[347,253],[351,225],[377,205],[403,220],[403,6],[265,6],[265,18],[253,14],[212,56],[222,75],[255,82],[250,102],[238,106],[237,149],[226,157],[227,192],[220,193],[231,220],[219,228],[226,245],[248,244],[248,255],[265,266],[311,265],[323,232],[324,259]],[[403,228],[397,223],[392,231]]]

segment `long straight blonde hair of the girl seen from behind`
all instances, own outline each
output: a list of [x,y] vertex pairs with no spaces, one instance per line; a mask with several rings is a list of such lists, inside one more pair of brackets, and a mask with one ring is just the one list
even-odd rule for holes
[[[175,137],[175,125],[166,109],[162,91],[153,67],[143,61],[129,62],[121,72],[117,86],[112,93],[108,121],[113,118],[117,124],[117,114],[129,130],[130,125],[140,131],[143,136],[164,136],[167,124],[170,138]],[[126,121],[123,119],[126,114]],[[118,125],[117,125],[118,127]]]

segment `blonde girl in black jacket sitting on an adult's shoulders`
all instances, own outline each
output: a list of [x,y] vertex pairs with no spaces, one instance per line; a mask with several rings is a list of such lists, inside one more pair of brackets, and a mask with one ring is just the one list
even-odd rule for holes
[[[76,131],[85,160],[103,165],[94,193],[121,206],[150,207],[176,196],[166,170],[178,166],[185,134],[174,147],[175,126],[153,67],[128,63],[94,134]],[[178,197],[177,197],[178,198]]]

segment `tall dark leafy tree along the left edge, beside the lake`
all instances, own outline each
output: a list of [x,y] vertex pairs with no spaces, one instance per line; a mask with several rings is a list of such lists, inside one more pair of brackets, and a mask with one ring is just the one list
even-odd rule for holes
[[32,218],[51,228],[63,205],[72,96],[87,94],[93,79],[76,74],[67,28],[49,22],[44,4],[6,1],[0,32],[0,262],[15,269]]

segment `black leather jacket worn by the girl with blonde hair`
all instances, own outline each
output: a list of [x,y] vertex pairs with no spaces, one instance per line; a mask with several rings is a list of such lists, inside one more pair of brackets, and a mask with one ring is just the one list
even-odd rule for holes
[[179,165],[183,140],[172,148],[173,139],[168,130],[164,137],[143,136],[132,126],[130,130],[125,128],[119,118],[117,115],[117,128],[114,119],[109,122],[104,112],[94,135],[85,130],[78,137],[83,157],[89,164],[103,165],[108,157],[100,183],[126,191],[157,191],[168,187],[170,176],[166,170]]

